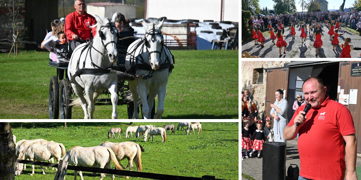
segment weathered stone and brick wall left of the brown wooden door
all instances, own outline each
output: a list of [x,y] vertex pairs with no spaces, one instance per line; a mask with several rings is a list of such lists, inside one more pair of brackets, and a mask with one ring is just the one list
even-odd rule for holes
[[262,118],[265,111],[265,100],[266,96],[266,78],[267,73],[263,70],[263,83],[254,84],[257,82],[258,73],[255,72],[255,69],[261,68],[273,68],[273,67],[283,67],[285,63],[290,63],[291,61],[242,61],[242,91],[245,89],[249,90],[249,95],[253,102],[256,103],[258,109],[258,118]]

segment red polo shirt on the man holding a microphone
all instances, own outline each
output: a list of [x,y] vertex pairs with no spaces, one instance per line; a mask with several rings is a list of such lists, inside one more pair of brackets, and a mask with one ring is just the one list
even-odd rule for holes
[[[293,120],[302,105],[293,114]],[[299,129],[298,150],[300,154],[300,175],[314,180],[340,180],[345,177],[345,147],[343,136],[355,133],[350,111],[341,103],[325,101],[317,108],[311,108],[307,120]]]

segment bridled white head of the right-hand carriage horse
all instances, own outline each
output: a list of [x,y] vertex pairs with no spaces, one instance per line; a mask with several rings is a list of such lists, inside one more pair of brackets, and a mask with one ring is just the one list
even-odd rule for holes
[[163,35],[161,28],[163,27],[164,19],[159,22],[158,20],[153,20],[151,23],[147,24],[143,20],[143,27],[145,28],[145,46],[147,53],[149,55],[149,64],[153,70],[157,70],[161,64],[161,53],[163,51]]

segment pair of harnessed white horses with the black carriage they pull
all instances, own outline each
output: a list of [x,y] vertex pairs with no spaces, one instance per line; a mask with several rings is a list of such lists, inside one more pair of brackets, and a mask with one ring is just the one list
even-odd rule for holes
[[[114,21],[110,21],[108,18],[100,19],[96,16],[96,20],[99,36],[97,34],[93,41],[81,44],[74,49],[69,62],[49,62],[49,66],[55,67],[57,71],[60,69],[68,71],[68,76],[61,80],[60,85],[57,76],[52,76],[50,79],[49,118],[57,119],[60,115],[61,119],[70,119],[72,106],[76,104],[74,102],[83,108],[84,118],[92,118],[94,105],[113,105],[112,118],[118,118],[117,105],[127,105],[128,118],[138,118],[138,96],[143,99],[142,102],[145,102],[140,105],[142,117],[160,118],[161,114],[155,116],[157,114],[155,113],[154,99],[156,95],[165,97],[165,87],[159,85],[152,87],[152,84],[155,83],[148,79],[159,81],[158,77],[152,76],[157,76],[165,69],[169,69],[169,76],[173,69],[174,58],[173,63],[169,59],[169,56],[173,57],[173,55],[166,46],[163,48],[163,37],[160,32],[163,21],[158,24],[159,27],[155,28],[155,24],[153,24],[153,28],[148,30],[147,23],[143,21],[147,35],[140,38],[127,33],[119,33],[115,28]],[[162,47],[152,47],[153,45],[157,46],[156,44],[161,44]],[[160,61],[153,60],[157,58]],[[165,79],[165,86],[168,76],[162,77]],[[144,84],[147,87],[140,90],[139,88]],[[133,94],[130,93],[130,85],[133,87]],[[102,90],[99,91],[99,89]],[[105,95],[108,98],[98,98],[101,94],[103,94],[101,97]],[[162,102],[158,103],[157,112],[162,113],[164,98],[158,101]]]

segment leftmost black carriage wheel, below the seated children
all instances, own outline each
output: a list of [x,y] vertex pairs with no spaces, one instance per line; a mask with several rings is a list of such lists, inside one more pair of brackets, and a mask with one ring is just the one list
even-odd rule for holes
[[59,85],[58,78],[52,76],[49,84],[49,119],[59,118]]

